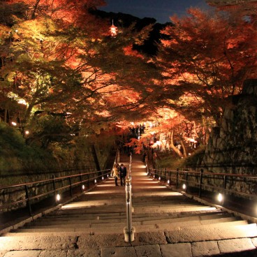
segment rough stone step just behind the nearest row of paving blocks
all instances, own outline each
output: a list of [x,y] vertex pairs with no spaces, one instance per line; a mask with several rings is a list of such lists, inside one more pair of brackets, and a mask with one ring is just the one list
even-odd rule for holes
[[[176,233],[174,231],[159,231],[153,233],[136,233],[135,232],[135,243],[131,242],[131,245],[146,245],[146,244],[177,244],[177,243],[187,243],[187,242],[210,242],[210,241],[222,241],[222,240],[235,240],[235,239],[242,239],[248,238],[250,240],[254,240],[255,245],[257,244],[257,234],[255,233],[237,233],[237,228],[235,228],[230,233],[227,233],[226,237],[223,236],[224,230],[216,230],[214,232],[219,232],[217,235],[216,233],[203,234],[203,230],[199,230],[200,234],[202,235],[195,235],[194,238],[192,237],[184,237],[187,233],[184,231],[181,237],[181,230],[177,230]],[[247,230],[245,230],[247,231]],[[68,235],[65,233],[38,233],[38,235],[31,235],[29,233],[25,233],[21,235],[20,233],[7,233],[5,237],[1,237],[1,242],[3,246],[9,246],[8,243],[13,244],[15,247],[15,241],[18,240],[19,244],[22,247],[29,247],[29,243],[33,244],[35,247],[36,244],[47,244],[47,241],[57,240],[58,244],[62,244],[63,242],[71,243],[72,240],[78,242],[78,244],[82,244],[83,247],[88,247],[87,244],[91,244],[91,242],[95,242],[95,247],[102,247],[103,244],[108,244],[108,247],[117,247],[117,246],[124,246],[124,235],[122,233],[116,234],[106,234],[106,235],[98,235],[94,233],[69,233]],[[51,237],[50,237],[51,235]],[[23,245],[24,243],[24,245]],[[74,244],[72,244],[74,246]],[[52,244],[50,244],[50,247]],[[106,245],[105,245],[106,246]],[[55,247],[55,246],[54,246]],[[80,248],[80,247],[79,247]],[[28,249],[28,248],[27,248]],[[40,247],[38,247],[40,249]]]

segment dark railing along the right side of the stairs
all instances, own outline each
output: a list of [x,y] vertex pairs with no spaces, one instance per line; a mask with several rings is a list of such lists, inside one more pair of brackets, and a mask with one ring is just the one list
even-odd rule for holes
[[[189,187],[198,188],[199,197],[202,195],[203,189],[205,189],[206,191],[216,191],[223,194],[244,196],[248,197],[249,199],[257,200],[257,194],[253,194],[250,190],[248,192],[238,191],[236,186],[233,186],[233,189],[231,189],[231,185],[235,183],[244,183],[245,186],[247,186],[247,183],[254,181],[257,184],[257,176],[254,175],[223,172],[203,172],[203,170],[161,170],[150,168],[147,172],[147,175],[149,175],[149,177],[159,179],[160,182],[168,182],[169,185],[173,184],[176,189],[182,187],[185,192],[188,191]],[[228,185],[230,185],[230,188]]]

